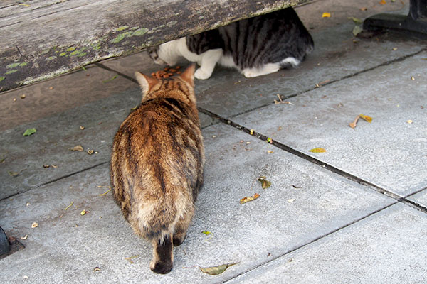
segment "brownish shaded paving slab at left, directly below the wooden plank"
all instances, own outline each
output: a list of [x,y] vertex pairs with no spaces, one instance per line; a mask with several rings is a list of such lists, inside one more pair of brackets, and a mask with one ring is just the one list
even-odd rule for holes
[[3,92],[0,131],[135,88],[134,82],[116,72],[90,65],[85,70]]

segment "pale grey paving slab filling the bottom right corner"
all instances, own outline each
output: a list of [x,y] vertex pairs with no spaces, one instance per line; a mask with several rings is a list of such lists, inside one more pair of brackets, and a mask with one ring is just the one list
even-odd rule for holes
[[426,226],[399,203],[226,283],[425,283]]

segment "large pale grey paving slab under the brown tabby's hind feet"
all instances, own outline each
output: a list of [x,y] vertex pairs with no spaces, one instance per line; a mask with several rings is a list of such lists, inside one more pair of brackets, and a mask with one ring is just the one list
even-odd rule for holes
[[[105,164],[0,201],[3,229],[28,235],[20,240],[26,249],[0,260],[0,282],[25,275],[31,283],[218,283],[396,202],[230,126],[203,134],[205,184],[171,273],[149,271],[151,245],[132,233],[111,192],[100,196]],[[260,175],[271,187],[260,187]],[[255,192],[257,200],[239,204]],[[195,267],[231,262],[239,263],[218,276]]]

